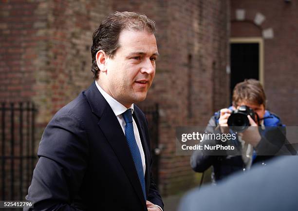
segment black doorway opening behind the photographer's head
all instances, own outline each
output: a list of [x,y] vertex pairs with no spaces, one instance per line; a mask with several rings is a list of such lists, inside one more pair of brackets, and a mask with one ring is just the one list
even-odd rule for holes
[[[260,44],[259,43],[231,43],[231,80],[230,92],[235,85],[244,79],[259,80]],[[231,100],[230,100],[231,101]],[[232,102],[232,101],[231,101]]]

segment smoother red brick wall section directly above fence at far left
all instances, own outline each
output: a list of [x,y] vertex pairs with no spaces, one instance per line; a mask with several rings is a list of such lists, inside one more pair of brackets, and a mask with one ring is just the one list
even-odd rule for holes
[[0,4],[0,101],[27,100],[34,95],[34,61],[38,29],[45,17],[36,13],[37,2],[5,1]]

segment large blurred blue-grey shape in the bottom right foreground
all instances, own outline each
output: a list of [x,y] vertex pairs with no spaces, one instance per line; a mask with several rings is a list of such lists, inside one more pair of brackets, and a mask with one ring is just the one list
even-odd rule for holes
[[298,156],[276,156],[246,173],[236,173],[217,185],[194,189],[179,211],[297,211]]

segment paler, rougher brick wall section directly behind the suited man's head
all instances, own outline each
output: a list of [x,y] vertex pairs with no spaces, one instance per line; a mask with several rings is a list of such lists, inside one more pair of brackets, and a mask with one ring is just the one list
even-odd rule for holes
[[[46,1],[48,9],[44,60],[34,86],[38,122],[48,122],[62,106],[93,81],[90,47],[99,21],[109,13],[103,1]],[[100,13],[98,11],[105,11]]]

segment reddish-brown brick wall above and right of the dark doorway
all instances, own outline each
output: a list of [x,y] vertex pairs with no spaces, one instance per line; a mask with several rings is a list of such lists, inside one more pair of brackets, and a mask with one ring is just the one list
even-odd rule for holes
[[[254,24],[257,13],[265,19],[260,25],[262,31],[271,28],[273,38],[264,38],[264,88],[268,108],[278,114],[289,126],[298,125],[298,2],[292,0],[231,0],[231,19],[235,19],[237,9],[245,10],[245,19],[233,26],[232,32],[242,36],[256,36],[245,26]],[[243,23],[243,24],[242,24]],[[245,26],[244,26],[245,25]]]

